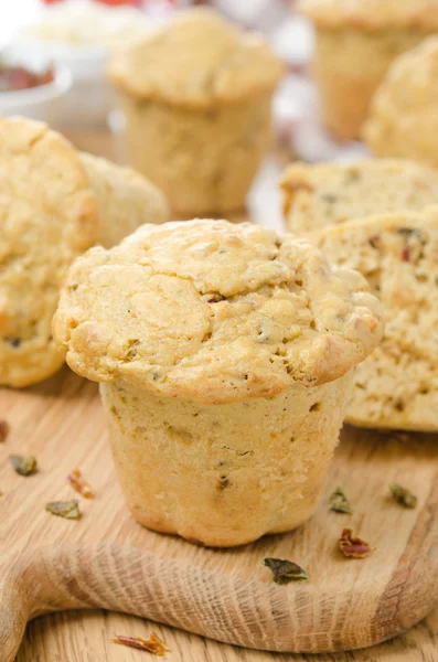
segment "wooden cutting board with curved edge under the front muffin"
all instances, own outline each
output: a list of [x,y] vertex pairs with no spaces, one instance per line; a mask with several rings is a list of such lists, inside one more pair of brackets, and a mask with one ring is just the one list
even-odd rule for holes
[[[60,609],[104,607],[244,647],[322,652],[393,637],[437,602],[437,437],[345,428],[317,514],[306,526],[217,551],[149,532],[131,519],[113,471],[95,384],[64,369],[33,388],[2,391],[0,413],[11,425],[0,445],[1,662],[13,661],[28,619]],[[40,471],[23,478],[7,458],[29,452]],[[95,500],[67,484],[74,468],[92,483]],[[418,495],[416,510],[388,498],[392,482]],[[353,515],[329,511],[339,483],[351,496]],[[47,501],[75,496],[84,513],[78,522],[44,510]],[[344,526],[376,546],[375,553],[344,558],[336,546]],[[310,580],[275,585],[261,564],[266,556],[297,562]]]

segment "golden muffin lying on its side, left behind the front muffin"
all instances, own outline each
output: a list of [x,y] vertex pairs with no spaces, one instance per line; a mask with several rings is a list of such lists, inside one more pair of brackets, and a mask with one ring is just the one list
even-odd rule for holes
[[46,125],[10,118],[0,119],[0,384],[28,386],[64,362],[51,323],[70,264],[145,220],[167,220],[165,203]]

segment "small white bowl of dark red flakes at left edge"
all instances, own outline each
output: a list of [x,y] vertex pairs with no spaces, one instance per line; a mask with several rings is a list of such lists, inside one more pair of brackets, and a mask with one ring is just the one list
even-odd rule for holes
[[[23,63],[23,66],[26,64]],[[0,115],[23,115],[32,119],[43,119],[52,126],[60,124],[62,99],[71,89],[72,82],[71,72],[66,67],[56,66],[51,83],[29,89],[0,92]]]

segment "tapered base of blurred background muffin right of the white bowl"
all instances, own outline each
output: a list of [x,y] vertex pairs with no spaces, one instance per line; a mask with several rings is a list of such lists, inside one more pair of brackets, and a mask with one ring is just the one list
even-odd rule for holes
[[241,211],[269,146],[270,97],[192,109],[124,95],[130,162],[180,220]]

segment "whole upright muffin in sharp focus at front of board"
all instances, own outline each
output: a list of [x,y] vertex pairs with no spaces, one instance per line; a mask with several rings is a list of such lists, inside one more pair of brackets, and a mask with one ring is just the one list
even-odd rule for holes
[[312,514],[378,308],[302,239],[197,220],[79,257],[53,331],[102,382],[133,516],[228,546]]

